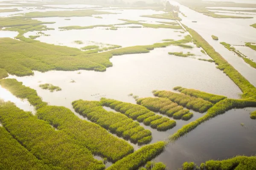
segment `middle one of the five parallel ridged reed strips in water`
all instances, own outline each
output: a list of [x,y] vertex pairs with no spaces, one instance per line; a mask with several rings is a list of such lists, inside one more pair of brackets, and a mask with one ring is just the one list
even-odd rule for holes
[[[174,119],[176,118],[176,119],[189,120],[189,117],[191,118],[193,116],[193,113],[191,116],[191,114],[188,114],[189,111],[187,109],[183,110],[182,106],[179,106],[177,103],[172,102],[171,100],[166,99],[166,98],[146,97],[146,98],[137,100],[137,104],[142,105],[151,111],[159,112],[159,113],[167,115],[169,117],[173,116]],[[188,115],[186,115],[186,114],[188,114]],[[178,116],[178,115],[180,115],[180,116]],[[184,116],[184,118],[183,118],[183,116]]]

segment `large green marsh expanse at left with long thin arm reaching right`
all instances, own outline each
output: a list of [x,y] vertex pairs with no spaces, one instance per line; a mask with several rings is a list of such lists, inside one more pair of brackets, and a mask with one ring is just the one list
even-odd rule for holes
[[[87,54],[87,51],[81,51],[77,48],[51,45],[23,36],[20,36],[19,39],[22,41],[0,38],[0,68],[5,69],[9,74],[17,76],[33,75],[32,70],[42,72],[50,70],[105,71],[107,67],[112,66],[109,59],[113,56],[148,53],[154,48],[183,45],[192,40],[188,35],[183,40],[119,48],[100,54]],[[108,50],[113,48],[117,48],[117,46],[108,47]],[[103,50],[105,49],[103,48]]]

